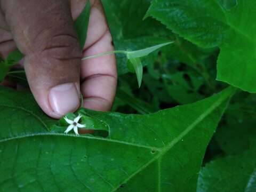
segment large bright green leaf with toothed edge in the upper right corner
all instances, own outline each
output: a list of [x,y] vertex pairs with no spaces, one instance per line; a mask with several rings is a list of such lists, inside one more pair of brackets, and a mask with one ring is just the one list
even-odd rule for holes
[[256,1],[154,0],[147,12],[202,47],[220,47],[217,79],[256,92]]

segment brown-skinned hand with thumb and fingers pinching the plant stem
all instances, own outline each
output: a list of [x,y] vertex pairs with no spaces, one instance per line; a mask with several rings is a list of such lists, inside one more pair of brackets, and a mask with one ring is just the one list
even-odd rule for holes
[[81,61],[114,50],[100,0],[90,0],[87,38],[83,51],[79,47],[74,20],[86,1],[0,0],[0,55],[16,46],[25,55],[21,64],[30,90],[53,118],[74,112],[81,93],[83,107],[93,110],[110,110],[115,98],[115,55]]

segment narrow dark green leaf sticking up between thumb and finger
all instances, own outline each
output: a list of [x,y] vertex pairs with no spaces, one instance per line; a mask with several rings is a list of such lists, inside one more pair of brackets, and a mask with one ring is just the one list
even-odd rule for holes
[[75,29],[76,29],[78,40],[82,49],[84,47],[86,36],[87,36],[87,29],[88,29],[89,18],[90,18],[90,7],[91,7],[90,1],[87,1],[84,7],[84,10],[75,21]]

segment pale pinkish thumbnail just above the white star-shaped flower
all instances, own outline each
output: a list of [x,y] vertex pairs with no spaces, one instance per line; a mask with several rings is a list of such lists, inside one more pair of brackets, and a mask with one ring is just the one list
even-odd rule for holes
[[58,115],[74,112],[80,104],[75,83],[66,83],[52,87],[49,93],[52,110]]

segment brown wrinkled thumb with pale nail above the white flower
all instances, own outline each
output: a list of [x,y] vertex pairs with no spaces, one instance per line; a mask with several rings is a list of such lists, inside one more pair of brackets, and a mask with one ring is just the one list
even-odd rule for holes
[[79,105],[82,51],[68,0],[2,0],[31,91],[44,112],[60,118]]

